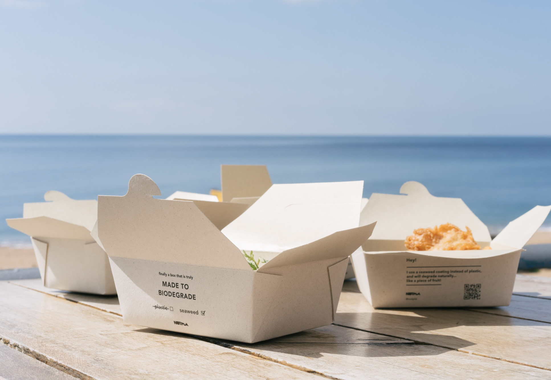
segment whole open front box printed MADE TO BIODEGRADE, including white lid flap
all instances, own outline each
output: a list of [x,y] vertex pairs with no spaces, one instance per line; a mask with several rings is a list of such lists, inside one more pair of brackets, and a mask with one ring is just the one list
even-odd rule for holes
[[[98,197],[94,237],[126,323],[254,343],[333,322],[348,256],[374,228],[357,227],[362,188],[272,185],[223,233],[137,174],[125,196]],[[253,271],[241,249],[280,253]]]

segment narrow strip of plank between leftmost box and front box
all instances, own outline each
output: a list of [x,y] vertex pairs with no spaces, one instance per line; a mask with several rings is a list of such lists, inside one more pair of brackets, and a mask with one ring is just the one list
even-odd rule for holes
[[118,304],[116,295],[73,293],[71,291],[46,288],[42,285],[42,280],[40,279],[12,280],[10,283],[122,316],[121,306]]

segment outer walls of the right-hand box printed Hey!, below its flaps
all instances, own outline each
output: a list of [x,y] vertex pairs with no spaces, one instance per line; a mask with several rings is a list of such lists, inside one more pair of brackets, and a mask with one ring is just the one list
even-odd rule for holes
[[371,305],[509,305],[520,250],[501,250],[493,255],[480,255],[480,258],[441,257],[424,253],[355,252],[352,260],[356,280]]

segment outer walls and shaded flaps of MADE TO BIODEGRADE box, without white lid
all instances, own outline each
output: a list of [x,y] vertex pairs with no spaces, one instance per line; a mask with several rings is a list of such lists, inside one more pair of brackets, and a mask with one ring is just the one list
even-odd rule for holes
[[[348,255],[374,227],[322,236],[253,271],[195,203],[153,199],[159,193],[137,174],[125,196],[98,197],[123,317],[208,337],[253,343],[331,323]],[[360,198],[349,212],[356,224]]]

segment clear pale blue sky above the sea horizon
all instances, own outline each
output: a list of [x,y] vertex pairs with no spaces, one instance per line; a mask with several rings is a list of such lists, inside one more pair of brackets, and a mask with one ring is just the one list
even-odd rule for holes
[[551,2],[0,0],[0,133],[551,135]]

